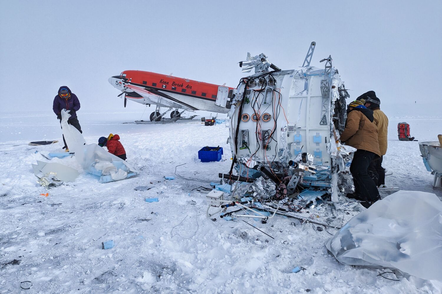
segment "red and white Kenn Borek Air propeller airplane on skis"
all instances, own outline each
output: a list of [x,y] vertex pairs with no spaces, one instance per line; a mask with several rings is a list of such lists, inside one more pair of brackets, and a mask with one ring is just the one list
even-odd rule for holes
[[[109,83],[122,92],[119,97],[124,95],[124,107],[128,99],[144,105],[156,105],[156,110],[150,115],[151,121],[160,121],[174,108],[170,114],[172,119],[179,118],[187,110],[228,113],[234,90],[225,85],[140,70],[125,70],[119,76],[110,77]],[[161,113],[160,107],[168,110]]]

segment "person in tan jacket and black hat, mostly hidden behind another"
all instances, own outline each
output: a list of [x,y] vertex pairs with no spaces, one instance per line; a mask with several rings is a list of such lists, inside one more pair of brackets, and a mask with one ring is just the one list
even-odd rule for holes
[[385,113],[381,111],[381,99],[376,97],[374,91],[366,92],[364,99],[365,107],[373,111],[373,123],[377,127],[377,140],[379,141],[379,150],[381,151],[381,158],[373,161],[369,169],[377,174],[377,186],[385,187],[385,169],[382,167],[382,160],[385,153],[387,153],[388,118]]

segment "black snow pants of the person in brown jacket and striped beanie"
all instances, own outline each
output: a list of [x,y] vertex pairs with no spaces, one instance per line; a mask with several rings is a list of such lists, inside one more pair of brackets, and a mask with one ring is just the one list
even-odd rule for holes
[[353,156],[350,172],[354,179],[355,194],[361,200],[377,201],[381,199],[376,184],[368,175],[368,168],[376,154],[370,151],[358,149]]

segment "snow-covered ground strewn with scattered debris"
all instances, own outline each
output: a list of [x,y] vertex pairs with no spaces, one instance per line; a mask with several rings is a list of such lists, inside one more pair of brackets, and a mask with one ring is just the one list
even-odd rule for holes
[[[277,216],[267,224],[250,220],[274,239],[242,221],[206,218],[205,183],[228,172],[231,159],[225,125],[194,122],[167,125],[122,123],[137,113],[79,111],[89,143],[119,134],[136,178],[98,183],[81,173],[75,183],[46,191],[36,183],[31,164],[48,161],[40,153],[60,149],[20,145],[61,140],[53,114],[0,113],[0,293],[442,293],[442,283],[408,277],[391,281],[381,270],[345,266],[324,246],[333,229],[317,231]],[[145,118],[147,116],[145,115]],[[429,191],[419,142],[397,140],[397,123],[411,125],[419,141],[435,141],[442,117],[390,118],[384,166],[389,186]],[[7,145],[10,144],[10,145]],[[15,146],[16,145],[16,146]],[[203,146],[224,148],[223,161],[201,163]],[[53,159],[79,168],[74,158]],[[154,186],[135,191],[139,185]],[[46,197],[44,194],[49,192]],[[434,191],[442,197],[440,191]],[[158,197],[159,202],[145,202]],[[113,240],[112,249],[101,242]],[[304,271],[292,273],[294,267]],[[387,276],[395,278],[394,276]]]

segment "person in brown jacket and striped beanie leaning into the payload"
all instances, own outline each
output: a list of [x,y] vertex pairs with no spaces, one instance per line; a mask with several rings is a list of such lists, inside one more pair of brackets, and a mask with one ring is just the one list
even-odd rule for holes
[[356,100],[348,105],[346,126],[340,139],[357,149],[350,166],[355,192],[347,194],[347,197],[362,200],[361,204],[368,208],[381,199],[376,183],[368,175],[371,162],[381,157],[381,151],[377,141],[377,127],[373,123],[373,111],[366,108],[364,103],[363,100]]

